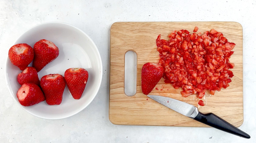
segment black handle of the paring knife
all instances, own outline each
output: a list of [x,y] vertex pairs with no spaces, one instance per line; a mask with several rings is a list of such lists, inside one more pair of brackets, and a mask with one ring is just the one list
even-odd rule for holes
[[199,112],[194,119],[216,129],[228,132],[230,134],[238,135],[244,138],[250,138],[250,135],[246,134],[245,132],[241,131],[237,127],[231,125],[230,123],[228,123],[224,119],[221,119],[213,113],[203,114]]

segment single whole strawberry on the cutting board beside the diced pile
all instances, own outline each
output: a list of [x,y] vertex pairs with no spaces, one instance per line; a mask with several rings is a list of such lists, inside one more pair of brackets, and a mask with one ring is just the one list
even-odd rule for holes
[[148,95],[163,76],[163,67],[155,63],[145,63],[141,69],[142,93]]

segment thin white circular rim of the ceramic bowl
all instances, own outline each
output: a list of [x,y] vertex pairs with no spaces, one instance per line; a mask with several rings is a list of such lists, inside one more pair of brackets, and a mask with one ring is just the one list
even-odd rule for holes
[[[24,106],[22,106],[16,99],[14,99],[16,96],[14,96],[13,94],[13,91],[11,90],[11,87],[10,87],[10,82],[9,82],[9,78],[8,78],[8,75],[7,75],[7,62],[9,60],[9,56],[7,56],[6,58],[6,62],[5,62],[5,79],[6,79],[6,83],[7,83],[7,87],[8,87],[8,90],[9,90],[9,93],[11,93],[12,95],[12,98],[13,100],[18,103],[18,105],[23,109],[25,110],[26,112],[30,113],[31,115],[35,116],[35,117],[38,117],[38,118],[41,118],[41,119],[49,119],[49,120],[57,120],[57,119],[66,119],[66,118],[69,118],[69,117],[72,117],[76,114],[78,114],[79,112],[81,112],[82,110],[84,110],[89,104],[92,103],[92,101],[95,99],[96,95],[98,94],[98,91],[99,91],[99,88],[101,87],[101,83],[102,83],[102,76],[103,76],[103,66],[102,66],[102,59],[101,59],[101,56],[100,56],[100,53],[99,53],[99,50],[98,50],[98,47],[96,46],[95,42],[91,39],[91,37],[89,37],[84,31],[82,31],[81,29],[75,27],[74,25],[71,25],[71,24],[68,24],[68,23],[64,23],[64,22],[45,22],[45,23],[41,23],[41,24],[37,24],[37,25],[34,25],[32,26],[31,28],[27,29],[25,32],[23,32],[23,34],[21,34],[19,36],[22,37],[23,35],[25,35],[25,33],[27,33],[28,31],[30,31],[31,29],[35,28],[35,27],[38,27],[38,26],[42,26],[42,25],[46,25],[46,24],[63,24],[63,25],[66,25],[66,26],[70,26],[76,30],[78,30],[79,32],[81,32],[82,34],[84,34],[91,42],[92,44],[96,47],[96,54],[99,56],[99,71],[100,71],[100,78],[99,78],[99,85],[97,86],[97,89],[96,89],[96,92],[95,92],[95,95],[93,96],[92,100],[90,100],[90,102],[88,102],[88,104],[86,104],[84,107],[82,107],[80,110],[78,110],[77,112],[74,112],[72,114],[69,114],[67,116],[63,116],[61,118],[45,118],[43,116],[38,116],[38,115],[34,115],[32,112],[30,111],[27,111]],[[19,39],[18,38],[18,39]],[[18,39],[14,42],[14,44],[17,44],[17,41]],[[9,51],[9,50],[8,50]]]

